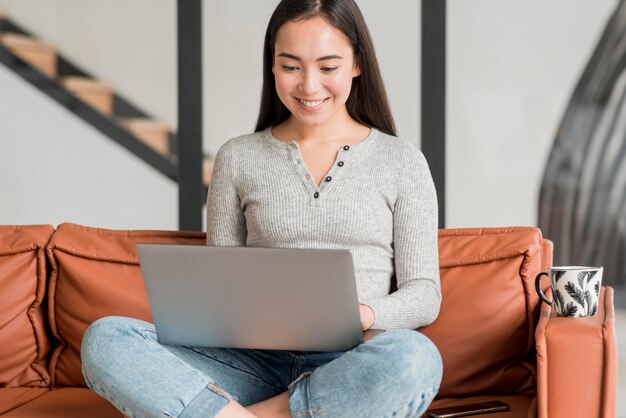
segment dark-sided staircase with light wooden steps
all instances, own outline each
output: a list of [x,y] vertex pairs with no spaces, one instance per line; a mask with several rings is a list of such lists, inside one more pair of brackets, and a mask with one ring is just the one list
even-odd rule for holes
[[[178,182],[177,137],[126,100],[110,83],[97,80],[67,60],[50,43],[36,39],[0,9],[0,63],[93,125],[164,176]],[[204,191],[213,163],[204,156]],[[206,200],[206,199],[205,199]]]

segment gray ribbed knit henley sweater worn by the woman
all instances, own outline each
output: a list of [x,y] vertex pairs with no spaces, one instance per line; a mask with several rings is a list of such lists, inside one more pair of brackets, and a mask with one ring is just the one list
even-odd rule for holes
[[[423,154],[372,129],[343,146],[318,187],[295,141],[271,130],[233,138],[215,158],[207,243],[347,249],[359,302],[373,328],[417,328],[435,320],[441,291],[437,198]],[[390,280],[396,275],[398,290]]]

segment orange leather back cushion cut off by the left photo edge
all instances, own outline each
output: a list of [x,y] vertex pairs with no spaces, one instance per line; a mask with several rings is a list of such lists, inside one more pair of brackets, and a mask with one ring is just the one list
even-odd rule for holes
[[50,225],[0,226],[0,387],[50,384],[42,302],[53,232]]

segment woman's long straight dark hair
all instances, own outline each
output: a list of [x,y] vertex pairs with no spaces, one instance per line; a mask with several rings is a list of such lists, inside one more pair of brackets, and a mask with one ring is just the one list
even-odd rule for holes
[[282,0],[276,6],[265,32],[263,89],[255,130],[258,132],[278,125],[291,115],[276,93],[276,82],[272,73],[278,29],[287,22],[316,16],[323,18],[346,36],[354,51],[355,63],[361,70],[361,74],[352,79],[352,89],[346,102],[348,114],[357,122],[395,136],[396,126],[372,38],[354,0]]

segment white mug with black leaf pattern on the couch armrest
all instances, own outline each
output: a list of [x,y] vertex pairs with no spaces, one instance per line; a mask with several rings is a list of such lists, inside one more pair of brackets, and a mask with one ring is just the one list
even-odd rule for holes
[[[586,317],[598,313],[598,297],[602,286],[602,267],[554,266],[535,278],[537,294],[556,310],[557,316]],[[541,291],[541,277],[550,278],[553,301]]]

